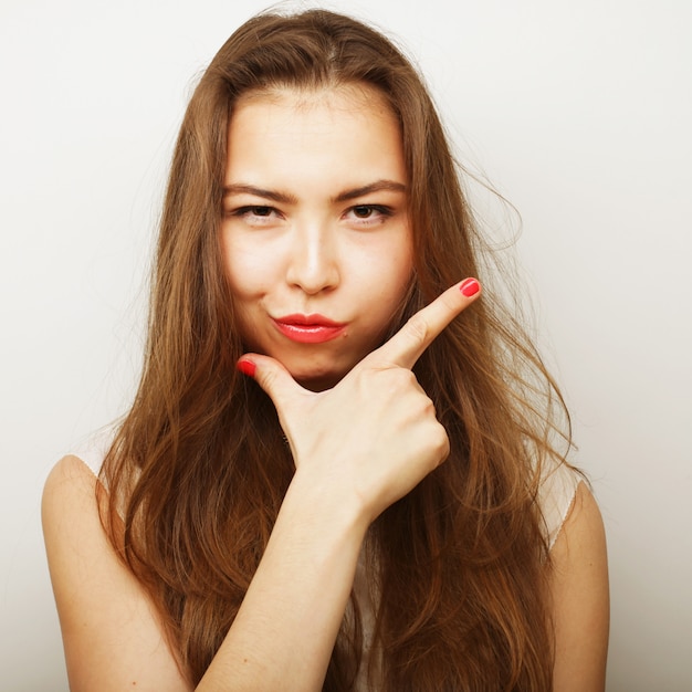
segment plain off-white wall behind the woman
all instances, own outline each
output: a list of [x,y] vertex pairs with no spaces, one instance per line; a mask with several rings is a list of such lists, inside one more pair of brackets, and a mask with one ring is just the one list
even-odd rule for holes
[[[119,413],[193,77],[264,2],[0,0],[0,686],[64,691],[39,507]],[[605,515],[608,689],[692,689],[692,3],[334,2],[398,35],[523,218]],[[453,8],[453,9],[450,9]],[[508,219],[515,223],[516,219]]]

